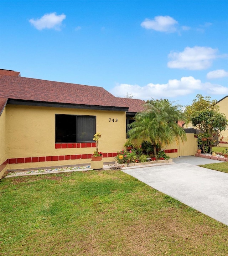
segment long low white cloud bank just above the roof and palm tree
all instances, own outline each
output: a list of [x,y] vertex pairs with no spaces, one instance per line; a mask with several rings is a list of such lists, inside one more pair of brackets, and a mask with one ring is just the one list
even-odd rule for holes
[[127,93],[132,94],[134,99],[149,100],[154,99],[175,99],[179,96],[186,96],[192,93],[206,94],[228,94],[228,87],[221,85],[202,83],[201,80],[192,76],[182,77],[180,80],[172,79],[167,84],[147,84],[145,86],[117,84],[111,93],[117,97],[124,97]]

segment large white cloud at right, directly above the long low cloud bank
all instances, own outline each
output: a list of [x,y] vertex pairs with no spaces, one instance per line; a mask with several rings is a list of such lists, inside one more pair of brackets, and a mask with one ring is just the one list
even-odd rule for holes
[[170,52],[167,66],[171,69],[202,70],[212,65],[212,60],[222,57],[211,47],[186,47],[182,52]]

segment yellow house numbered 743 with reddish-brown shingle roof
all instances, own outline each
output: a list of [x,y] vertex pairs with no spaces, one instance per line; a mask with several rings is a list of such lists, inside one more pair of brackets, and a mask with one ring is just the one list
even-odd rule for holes
[[102,134],[104,161],[114,161],[126,141],[126,124],[143,105],[102,87],[0,70],[0,178],[7,169],[89,164],[96,132]]

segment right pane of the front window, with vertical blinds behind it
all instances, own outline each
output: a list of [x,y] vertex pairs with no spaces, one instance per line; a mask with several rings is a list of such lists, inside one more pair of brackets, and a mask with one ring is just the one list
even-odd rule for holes
[[91,142],[95,133],[95,116],[77,116],[77,142]]

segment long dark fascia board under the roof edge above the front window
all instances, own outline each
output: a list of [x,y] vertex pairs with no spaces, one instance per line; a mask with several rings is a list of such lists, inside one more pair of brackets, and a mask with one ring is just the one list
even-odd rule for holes
[[93,110],[109,110],[109,111],[124,111],[124,112],[128,111],[128,107],[68,104],[68,103],[57,103],[57,102],[46,102],[46,101],[8,99],[7,103],[11,105],[25,105],[25,106],[38,106],[38,107],[63,107],[67,109],[93,109]]

